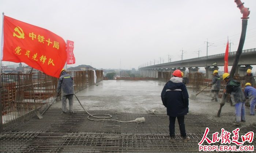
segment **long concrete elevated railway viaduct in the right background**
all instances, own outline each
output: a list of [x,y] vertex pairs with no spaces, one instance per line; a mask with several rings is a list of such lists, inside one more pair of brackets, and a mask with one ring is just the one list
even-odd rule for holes
[[[218,70],[218,66],[224,66],[225,54],[216,54],[210,56],[203,56],[199,58],[179,60],[175,62],[156,64],[151,66],[140,67],[139,71],[143,77],[158,77],[158,71],[172,72],[176,69],[185,72],[188,68],[189,73],[195,73],[199,71],[199,67],[204,67],[206,70],[206,77],[210,77],[214,70]],[[235,52],[229,52],[229,66],[234,63]],[[243,50],[237,68],[237,74],[244,76],[248,68],[252,68],[251,65],[256,65],[256,48]]]

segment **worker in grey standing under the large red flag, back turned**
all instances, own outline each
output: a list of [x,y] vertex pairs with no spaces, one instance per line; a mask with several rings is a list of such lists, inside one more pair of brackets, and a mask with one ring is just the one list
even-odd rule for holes
[[74,81],[71,75],[67,74],[65,69],[61,70],[60,78],[57,86],[57,94],[61,94],[62,102],[62,113],[68,113],[67,111],[67,99],[69,102],[69,112],[74,114],[73,111],[73,96],[74,91]]

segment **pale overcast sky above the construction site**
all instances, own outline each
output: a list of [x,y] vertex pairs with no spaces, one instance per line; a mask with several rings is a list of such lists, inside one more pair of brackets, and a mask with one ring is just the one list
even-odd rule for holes
[[[256,0],[243,49],[256,48]],[[76,63],[136,68],[236,51],[242,14],[234,0],[0,0],[0,12],[74,41]],[[2,25],[2,17],[0,24]],[[1,30],[2,32],[2,30]]]

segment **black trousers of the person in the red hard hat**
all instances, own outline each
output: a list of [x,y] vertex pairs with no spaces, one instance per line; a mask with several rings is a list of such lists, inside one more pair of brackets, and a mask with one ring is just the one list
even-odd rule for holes
[[[184,123],[184,116],[177,117],[178,123],[180,127],[180,134],[182,137],[187,136],[186,130],[185,130],[185,123]],[[175,120],[176,117],[169,116],[170,124],[169,124],[169,131],[170,131],[170,137],[175,136]]]

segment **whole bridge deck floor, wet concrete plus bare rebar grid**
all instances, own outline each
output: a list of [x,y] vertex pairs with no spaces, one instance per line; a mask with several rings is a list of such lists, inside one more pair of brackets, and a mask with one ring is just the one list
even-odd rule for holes
[[[164,84],[158,81],[102,81],[76,94],[91,114],[110,114],[112,119],[120,121],[145,117],[145,123],[90,121],[78,101],[74,101],[75,114],[61,114],[58,102],[46,111],[43,119],[34,117],[1,133],[0,152],[198,152],[198,143],[206,127],[210,129],[207,135],[210,139],[212,133],[221,133],[221,128],[231,134],[237,128],[231,124],[234,107],[226,104],[222,116],[217,118],[219,103],[199,94],[195,101],[189,101],[189,114],[185,116],[191,140],[181,141],[176,123],[176,142],[170,143],[169,118],[160,98]],[[189,91],[191,94],[195,93]],[[146,114],[146,109],[156,109],[157,114]],[[246,110],[239,141],[241,135],[255,132],[255,125],[255,116],[249,116]],[[245,145],[255,146],[256,142]]]

